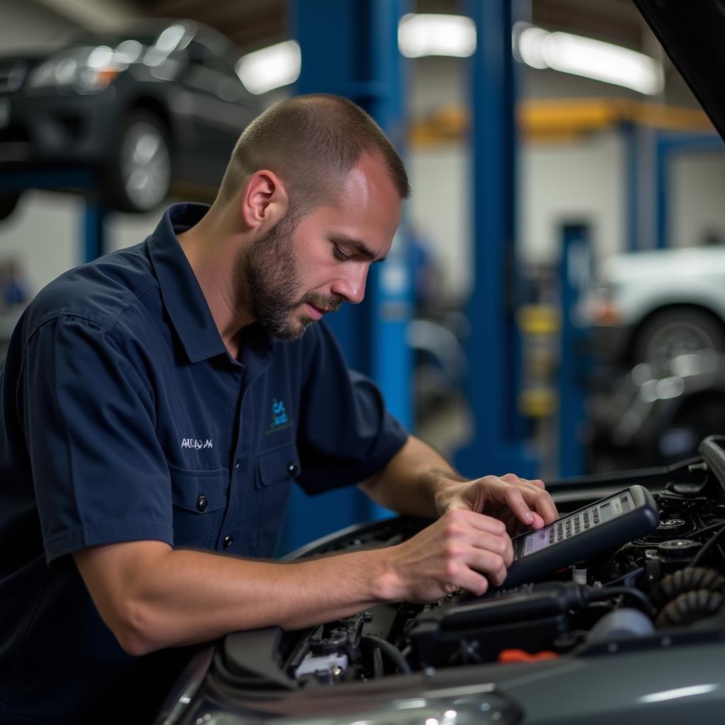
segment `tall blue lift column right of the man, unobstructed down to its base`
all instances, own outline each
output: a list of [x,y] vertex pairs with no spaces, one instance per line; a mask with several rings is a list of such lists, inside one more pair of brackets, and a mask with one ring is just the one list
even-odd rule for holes
[[473,211],[475,279],[468,317],[467,392],[473,440],[458,452],[466,476],[514,471],[531,477],[536,461],[517,411],[519,344],[515,297],[515,70],[511,0],[468,0],[478,36],[473,56]]

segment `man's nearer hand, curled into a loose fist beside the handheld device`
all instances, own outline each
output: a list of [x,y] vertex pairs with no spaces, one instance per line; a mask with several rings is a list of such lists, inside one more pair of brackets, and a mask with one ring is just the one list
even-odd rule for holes
[[504,524],[490,516],[450,510],[402,544],[386,552],[392,572],[386,598],[434,602],[468,589],[482,595],[502,584],[513,561],[511,539]]

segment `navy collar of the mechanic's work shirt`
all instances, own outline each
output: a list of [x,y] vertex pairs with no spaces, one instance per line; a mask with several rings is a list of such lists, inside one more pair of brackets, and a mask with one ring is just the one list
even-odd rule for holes
[[[192,363],[214,355],[229,356],[199,281],[176,239],[176,233],[193,227],[208,210],[208,204],[173,204],[147,240],[164,305]],[[245,330],[245,347],[268,357],[270,339],[256,324],[249,328]]]

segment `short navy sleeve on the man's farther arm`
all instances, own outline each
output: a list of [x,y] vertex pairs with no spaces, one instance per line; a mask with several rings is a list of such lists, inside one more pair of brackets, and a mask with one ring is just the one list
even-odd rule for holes
[[297,436],[302,462],[297,481],[309,494],[368,479],[408,437],[376,384],[347,368],[329,329],[323,324],[314,329]]

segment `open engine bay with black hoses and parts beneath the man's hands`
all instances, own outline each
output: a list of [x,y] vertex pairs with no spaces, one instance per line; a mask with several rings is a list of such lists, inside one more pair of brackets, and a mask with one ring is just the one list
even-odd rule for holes
[[[633,482],[642,484],[660,512],[650,534],[544,581],[481,597],[456,592],[428,605],[379,605],[301,631],[231,634],[216,648],[210,672],[237,693],[279,692],[469,665],[671,650],[724,639],[722,440],[705,439],[701,457],[668,468],[550,486],[564,513]],[[426,523],[394,518],[352,527],[302,555],[394,545]]]

